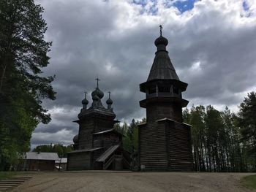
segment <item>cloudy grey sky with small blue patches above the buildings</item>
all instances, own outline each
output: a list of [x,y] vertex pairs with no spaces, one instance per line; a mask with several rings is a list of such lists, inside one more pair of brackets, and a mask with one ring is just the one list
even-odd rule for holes
[[53,42],[45,75],[56,74],[55,101],[44,101],[52,121],[34,131],[31,147],[72,143],[83,92],[112,92],[116,118],[129,123],[146,116],[139,101],[154,60],[154,39],[167,50],[183,94],[192,104],[237,111],[246,93],[256,90],[255,0],[37,0],[45,8],[45,38]]

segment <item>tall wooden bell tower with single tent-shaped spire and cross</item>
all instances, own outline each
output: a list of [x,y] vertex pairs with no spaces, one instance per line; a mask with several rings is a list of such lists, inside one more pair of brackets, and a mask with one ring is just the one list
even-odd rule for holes
[[146,99],[140,107],[146,108],[146,123],[139,125],[139,167],[146,171],[192,171],[192,147],[190,126],[183,123],[182,107],[188,102],[182,99],[187,83],[179,80],[170,61],[166,46],[168,41],[160,37],[148,80],[140,84]]

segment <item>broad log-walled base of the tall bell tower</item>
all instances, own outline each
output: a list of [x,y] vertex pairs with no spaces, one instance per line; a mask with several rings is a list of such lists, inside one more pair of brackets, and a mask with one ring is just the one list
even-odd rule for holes
[[139,126],[140,168],[192,171],[190,127],[170,120]]

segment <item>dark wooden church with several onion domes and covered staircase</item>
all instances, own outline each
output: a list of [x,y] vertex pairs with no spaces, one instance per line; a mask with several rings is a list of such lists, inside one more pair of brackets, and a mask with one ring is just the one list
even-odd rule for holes
[[129,169],[129,153],[122,147],[123,135],[113,128],[117,123],[115,113],[111,105],[113,101],[109,98],[105,108],[101,99],[104,93],[97,88],[91,93],[92,104],[89,109],[89,101],[83,99],[83,109],[78,114],[75,123],[79,125],[79,132],[74,137],[75,150],[67,153],[67,170],[86,169]]

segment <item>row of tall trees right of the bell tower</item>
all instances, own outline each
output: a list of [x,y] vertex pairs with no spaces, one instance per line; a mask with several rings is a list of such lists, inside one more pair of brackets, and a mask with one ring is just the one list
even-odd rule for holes
[[236,114],[197,106],[183,113],[192,125],[195,171],[256,171],[256,93],[249,93]]

